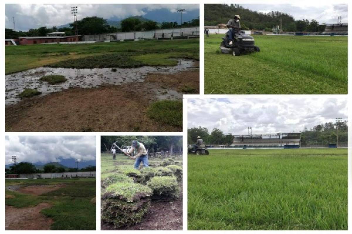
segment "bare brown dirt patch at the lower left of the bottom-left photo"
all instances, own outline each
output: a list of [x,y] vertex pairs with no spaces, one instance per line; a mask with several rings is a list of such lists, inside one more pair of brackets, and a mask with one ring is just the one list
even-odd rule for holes
[[14,208],[5,206],[5,230],[49,230],[54,222],[40,211],[50,208],[49,203],[39,203],[36,206]]

